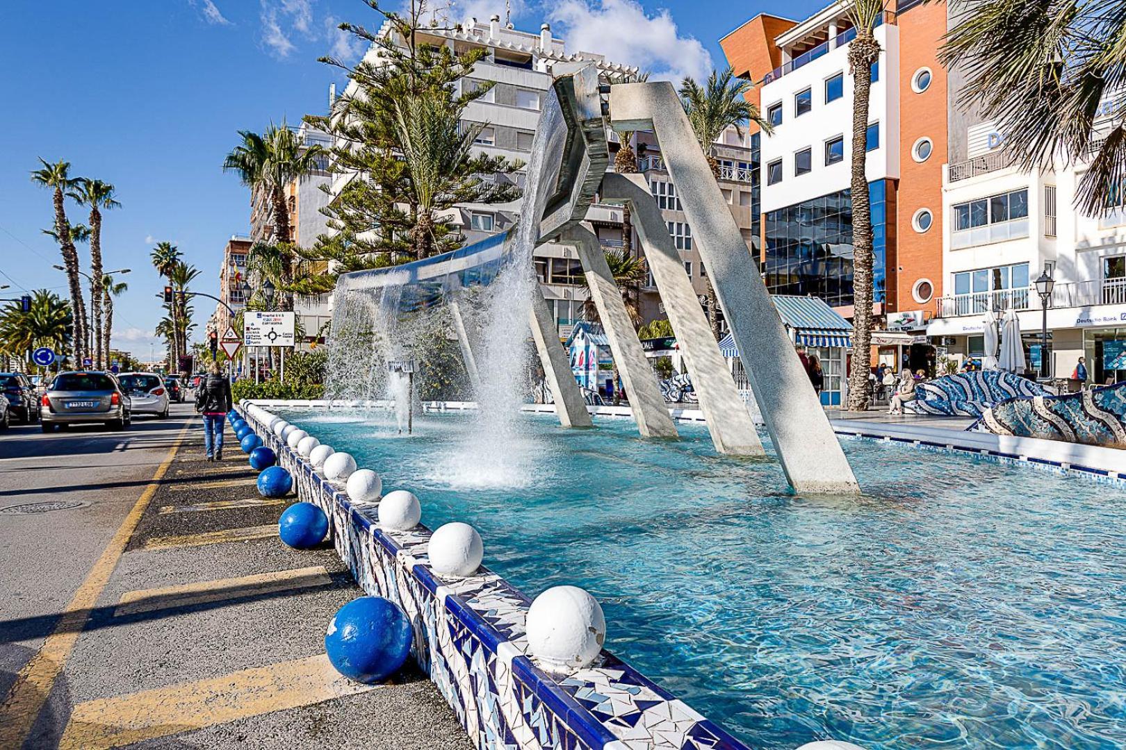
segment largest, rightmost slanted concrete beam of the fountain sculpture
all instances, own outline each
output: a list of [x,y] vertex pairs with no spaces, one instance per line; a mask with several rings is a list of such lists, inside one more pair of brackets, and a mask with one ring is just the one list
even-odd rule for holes
[[[739,346],[786,478],[804,493],[859,493],[852,468],[775,310],[739,226],[668,81],[610,89],[611,124],[652,129]],[[698,391],[697,391],[698,392]]]

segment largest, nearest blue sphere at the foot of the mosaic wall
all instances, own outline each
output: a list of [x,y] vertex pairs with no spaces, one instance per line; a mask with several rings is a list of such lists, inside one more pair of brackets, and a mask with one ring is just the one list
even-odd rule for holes
[[394,602],[363,596],[337,611],[324,634],[324,650],[338,672],[372,685],[399,671],[412,639],[410,620]]

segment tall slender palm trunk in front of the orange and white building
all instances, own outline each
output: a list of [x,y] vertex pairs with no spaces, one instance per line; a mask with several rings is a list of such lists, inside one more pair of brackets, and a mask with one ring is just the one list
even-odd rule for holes
[[886,0],[849,0],[847,13],[856,28],[849,43],[852,73],[852,371],[848,379],[848,408],[868,409],[868,362],[872,359],[873,231],[868,199],[868,97],[872,66],[879,60],[876,27],[883,21]]

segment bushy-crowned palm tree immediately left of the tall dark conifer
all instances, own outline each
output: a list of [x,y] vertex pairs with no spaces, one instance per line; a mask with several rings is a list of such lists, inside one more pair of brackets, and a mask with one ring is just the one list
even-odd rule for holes
[[223,171],[236,172],[244,186],[265,192],[274,209],[275,242],[292,242],[286,190],[320,169],[327,152],[315,144],[302,144],[285,120],[271,124],[262,135],[250,130],[239,130],[239,135],[242,143],[223,160]]

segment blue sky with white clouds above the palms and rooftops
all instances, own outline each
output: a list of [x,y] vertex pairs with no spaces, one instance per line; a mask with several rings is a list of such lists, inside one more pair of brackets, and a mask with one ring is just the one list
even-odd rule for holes
[[[400,2],[400,0],[394,0]],[[825,0],[510,0],[517,28],[547,21],[569,52],[605,54],[654,78],[703,76],[725,66],[718,39],[759,12],[804,18]],[[238,130],[298,123],[328,107],[338,69],[364,51],[337,28],[379,25],[361,0],[9,0],[0,24],[0,298],[24,290],[66,295],[50,191],[30,182],[38,159],[114,184],[119,209],[102,220],[106,270],[128,268],[115,304],[116,349],[142,360],[161,344],[153,328],[162,288],[149,261],[161,241],[200,269],[193,288],[217,293],[223,246],[249,233],[249,192],[222,171]],[[454,20],[504,13],[503,0],[439,0]],[[388,8],[394,9],[392,6]],[[87,210],[68,201],[72,223]],[[79,246],[83,268],[88,252]],[[87,292],[88,295],[88,292]],[[87,296],[89,304],[89,297]],[[205,304],[207,302],[207,304]],[[209,300],[196,304],[203,340]]]

